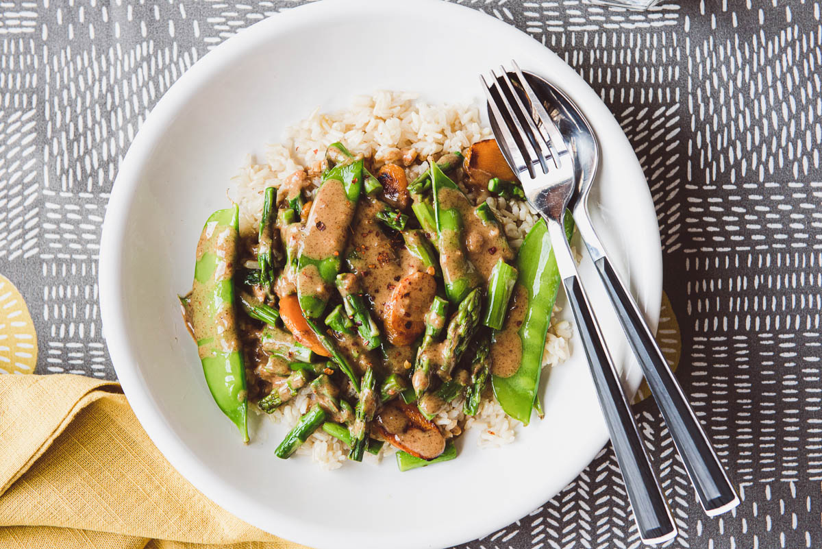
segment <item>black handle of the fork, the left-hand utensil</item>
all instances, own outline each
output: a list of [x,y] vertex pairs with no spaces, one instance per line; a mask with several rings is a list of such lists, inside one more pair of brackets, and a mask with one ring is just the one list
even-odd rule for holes
[[634,414],[630,411],[617,370],[603,344],[602,332],[577,276],[563,279],[562,284],[574,311],[585,354],[588,355],[593,384],[611,433],[614,453],[617,454],[617,462],[625,479],[640,536],[646,543],[666,541],[677,534],[677,528],[657,479],[653,476],[648,454],[645,453],[634,422]]

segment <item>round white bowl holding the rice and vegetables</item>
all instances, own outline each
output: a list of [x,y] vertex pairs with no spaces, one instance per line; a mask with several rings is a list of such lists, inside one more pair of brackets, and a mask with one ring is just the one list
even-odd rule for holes
[[[436,102],[478,101],[478,74],[515,58],[580,104],[602,144],[594,219],[652,325],[662,261],[653,203],[626,136],[598,96],[541,44],[466,7],[427,0],[320,2],[261,21],[208,53],[159,101],[114,184],[103,229],[100,304],[109,353],[145,431],[205,496],[247,522],[308,546],[448,547],[520,519],[554,496],[607,441],[578,339],[543,383],[545,419],[516,441],[481,450],[476,434],[445,464],[399,473],[276,459],[284,426],[256,420],[244,446],[215,406],[177,294],[192,284],[204,219],[244,155],[278,141],[313,108],[353,95],[413,90]],[[577,243],[579,245],[579,242]],[[629,253],[630,252],[630,253]],[[589,261],[593,302],[607,303]],[[563,301],[560,301],[563,303]],[[564,311],[563,314],[567,314]],[[626,387],[616,316],[598,307]],[[570,318],[570,316],[566,316]]]

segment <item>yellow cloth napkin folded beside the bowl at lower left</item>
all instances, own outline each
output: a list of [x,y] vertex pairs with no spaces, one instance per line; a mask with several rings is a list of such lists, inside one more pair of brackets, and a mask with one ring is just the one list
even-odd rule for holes
[[0,547],[292,549],[183,478],[120,385],[0,375]]

